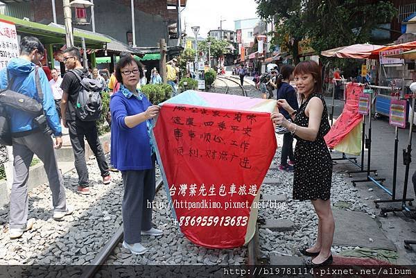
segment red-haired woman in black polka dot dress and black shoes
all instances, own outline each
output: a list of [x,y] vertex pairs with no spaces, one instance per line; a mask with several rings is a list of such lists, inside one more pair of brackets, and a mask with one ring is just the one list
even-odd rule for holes
[[306,265],[327,266],[332,263],[331,245],[335,229],[329,200],[332,161],[324,141],[324,136],[330,129],[327,105],[321,94],[322,78],[316,62],[301,62],[293,73],[297,92],[302,98],[300,109],[293,110],[285,100],[278,100],[277,105],[291,115],[293,123],[278,112],[272,113],[271,118],[274,123],[290,130],[297,139],[293,199],[311,200],[318,215],[316,243],[301,252],[306,256],[316,256],[313,260],[306,261]]

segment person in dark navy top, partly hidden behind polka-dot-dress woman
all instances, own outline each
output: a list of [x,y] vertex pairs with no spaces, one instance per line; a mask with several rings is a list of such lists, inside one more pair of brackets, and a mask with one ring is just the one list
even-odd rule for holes
[[[297,96],[295,89],[289,84],[293,80],[294,67],[286,64],[281,67],[279,76],[277,76],[277,99],[286,99],[293,110],[297,111],[299,105],[297,104]],[[286,110],[279,107],[279,112],[285,116],[286,119],[291,119],[291,115]],[[289,158],[289,162],[288,162]],[[281,159],[279,169],[281,171],[293,171],[293,164],[295,157],[293,156],[293,135],[287,132],[283,135],[283,146],[281,146]]]

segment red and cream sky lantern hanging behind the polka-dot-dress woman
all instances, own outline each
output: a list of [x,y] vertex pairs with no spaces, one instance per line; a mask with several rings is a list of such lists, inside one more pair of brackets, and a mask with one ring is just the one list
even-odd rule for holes
[[363,115],[358,114],[358,102],[361,94],[363,94],[363,86],[358,83],[346,85],[345,98],[347,102],[344,110],[324,137],[329,148],[351,155],[361,153],[363,127],[360,123],[363,120]]

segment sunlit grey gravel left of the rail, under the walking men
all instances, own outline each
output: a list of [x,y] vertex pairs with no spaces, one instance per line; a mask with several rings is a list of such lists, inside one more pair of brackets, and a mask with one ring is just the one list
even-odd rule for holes
[[91,263],[122,223],[123,186],[121,173],[112,173],[112,182],[104,185],[95,159],[89,160],[87,167],[90,195],[76,193],[78,175],[75,170],[63,175],[67,204],[74,210],[63,221],[52,218],[48,184],[28,193],[28,217],[35,218],[35,224],[21,238],[10,240],[8,207],[0,208],[0,265]]

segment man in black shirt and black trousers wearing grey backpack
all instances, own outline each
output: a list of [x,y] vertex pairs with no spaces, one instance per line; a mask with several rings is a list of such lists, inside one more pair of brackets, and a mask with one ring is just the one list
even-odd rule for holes
[[[103,177],[103,184],[110,184],[111,181],[96,125],[96,119],[99,119],[101,109],[100,107],[95,107],[95,104],[101,102],[101,97],[100,92],[97,94],[97,90],[94,90],[94,87],[98,88],[100,84],[96,80],[89,79],[91,76],[88,70],[83,68],[81,54],[76,47],[71,46],[64,50],[64,63],[68,71],[65,73],[61,85],[63,91],[61,100],[62,123],[65,128],[69,129],[69,138],[71,139],[75,157],[75,168],[78,173],[77,192],[89,194],[84,137],[96,156],[98,167]],[[85,98],[87,96],[92,96],[89,97],[89,101],[94,101],[96,98],[99,99],[96,99],[96,103],[86,103]],[[96,111],[94,109],[91,111],[90,107],[95,107]]]

